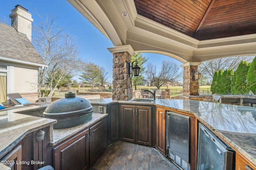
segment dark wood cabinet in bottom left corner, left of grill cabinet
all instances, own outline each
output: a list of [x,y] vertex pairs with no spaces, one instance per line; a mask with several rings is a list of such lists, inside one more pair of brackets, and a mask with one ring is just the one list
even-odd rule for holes
[[[36,135],[44,131],[44,139],[36,140]],[[50,150],[50,152],[48,152]],[[12,164],[6,164],[12,170],[34,170],[42,166],[52,165],[52,152],[50,147],[50,127],[44,127],[28,133],[10,152],[6,153],[0,160],[6,160]],[[38,163],[32,163],[38,162]],[[13,164],[14,163],[14,164]]]

